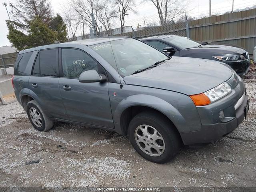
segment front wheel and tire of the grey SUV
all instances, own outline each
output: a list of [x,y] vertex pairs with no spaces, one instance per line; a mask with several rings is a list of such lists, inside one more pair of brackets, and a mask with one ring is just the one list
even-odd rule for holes
[[182,146],[175,126],[158,112],[137,114],[132,118],[128,132],[134,149],[151,162],[169,162]]

